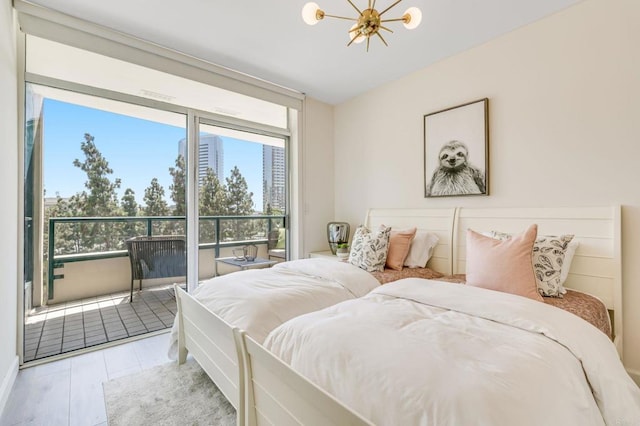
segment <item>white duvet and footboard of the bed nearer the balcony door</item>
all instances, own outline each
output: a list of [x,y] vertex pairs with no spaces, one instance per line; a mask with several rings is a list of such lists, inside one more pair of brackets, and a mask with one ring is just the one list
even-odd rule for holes
[[[364,296],[378,285],[371,274],[352,265],[304,259],[216,277],[200,284],[192,295],[176,286],[178,315],[169,357],[182,364],[191,352],[240,416],[241,365],[234,327],[262,343],[286,320]],[[215,313],[217,320],[207,312]]]

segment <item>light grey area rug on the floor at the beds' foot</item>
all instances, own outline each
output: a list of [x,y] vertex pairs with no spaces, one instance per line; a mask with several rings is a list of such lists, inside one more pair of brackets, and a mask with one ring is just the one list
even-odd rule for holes
[[163,364],[102,387],[110,426],[236,424],[233,406],[193,360]]

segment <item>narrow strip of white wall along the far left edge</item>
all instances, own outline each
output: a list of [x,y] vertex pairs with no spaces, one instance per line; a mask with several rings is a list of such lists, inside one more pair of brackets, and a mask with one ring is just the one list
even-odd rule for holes
[[17,373],[18,114],[15,20],[11,1],[0,2],[0,412]]

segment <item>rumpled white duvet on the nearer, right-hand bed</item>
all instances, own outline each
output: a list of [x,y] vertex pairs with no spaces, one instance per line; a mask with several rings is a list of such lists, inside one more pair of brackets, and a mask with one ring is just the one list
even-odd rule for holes
[[511,294],[400,280],[264,345],[378,425],[640,424],[640,390],[607,336]]

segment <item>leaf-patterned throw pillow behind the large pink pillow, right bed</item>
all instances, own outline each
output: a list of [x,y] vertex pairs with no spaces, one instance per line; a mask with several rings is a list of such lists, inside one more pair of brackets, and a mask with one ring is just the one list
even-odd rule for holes
[[[491,231],[499,240],[510,238],[504,232]],[[577,242],[573,235],[541,236],[533,245],[533,271],[538,292],[543,296],[562,297],[567,290],[562,285],[568,275]]]

